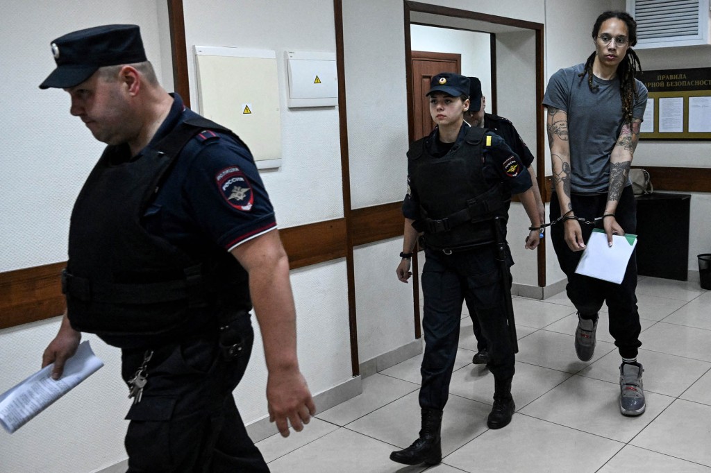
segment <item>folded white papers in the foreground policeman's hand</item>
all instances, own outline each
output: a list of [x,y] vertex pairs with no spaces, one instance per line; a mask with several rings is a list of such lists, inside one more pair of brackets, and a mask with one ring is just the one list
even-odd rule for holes
[[62,377],[57,381],[51,377],[54,364],[48,364],[0,395],[0,424],[14,433],[102,366],[104,362],[92,352],[89,342],[82,342],[74,356],[66,361]]

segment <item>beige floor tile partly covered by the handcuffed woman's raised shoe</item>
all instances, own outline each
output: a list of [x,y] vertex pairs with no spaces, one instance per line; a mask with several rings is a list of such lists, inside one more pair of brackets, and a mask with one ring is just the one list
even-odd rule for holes
[[575,355],[574,337],[547,330],[538,330],[518,342],[516,359],[528,364],[557,369],[567,373],[577,373],[596,359],[612,350],[614,344],[597,342],[595,354],[590,361],[580,361]]

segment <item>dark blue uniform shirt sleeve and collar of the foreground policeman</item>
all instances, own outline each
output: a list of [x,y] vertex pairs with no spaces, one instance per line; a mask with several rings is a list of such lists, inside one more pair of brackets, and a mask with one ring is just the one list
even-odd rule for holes
[[[178,94],[171,95],[171,110],[146,148],[196,116]],[[272,203],[250,151],[226,134],[208,131],[195,140],[199,151],[178,158],[145,212],[145,228],[188,253],[210,244],[229,251],[276,228]]]

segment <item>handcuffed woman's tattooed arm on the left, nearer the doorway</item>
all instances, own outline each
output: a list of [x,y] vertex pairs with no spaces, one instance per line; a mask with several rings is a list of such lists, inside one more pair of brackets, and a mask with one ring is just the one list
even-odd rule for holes
[[[560,203],[560,213],[574,215],[570,201],[570,143],[568,142],[568,114],[561,109],[547,107],[548,146],[553,170],[553,187]],[[577,220],[565,220],[565,242],[572,251],[585,248]]]

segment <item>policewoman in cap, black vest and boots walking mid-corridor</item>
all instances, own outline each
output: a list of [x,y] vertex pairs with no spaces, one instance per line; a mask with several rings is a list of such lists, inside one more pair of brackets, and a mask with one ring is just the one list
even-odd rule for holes
[[[497,259],[494,225],[506,225],[507,192],[518,194],[532,227],[540,227],[531,180],[525,166],[502,138],[464,122],[469,108],[469,78],[443,72],[432,77],[427,92],[437,128],[407,152],[407,195],[402,205],[405,237],[397,278],[407,282],[418,233],[424,234],[424,358],[419,405],[422,429],[405,450],[390,454],[404,464],[437,464],[442,460],[440,427],[459,341],[464,297],[475,303],[483,334],[490,341],[488,367],[496,384],[488,415],[489,428],[511,420],[514,348],[506,319],[505,285],[513,264],[502,245],[506,264]],[[538,231],[526,248],[538,246]],[[506,271],[502,270],[506,267]],[[513,329],[513,327],[511,327]]]

